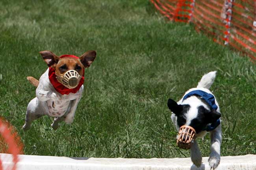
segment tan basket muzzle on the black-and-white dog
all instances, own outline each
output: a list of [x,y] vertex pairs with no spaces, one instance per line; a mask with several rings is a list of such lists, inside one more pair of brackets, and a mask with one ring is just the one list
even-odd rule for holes
[[196,138],[195,133],[195,129],[191,126],[181,126],[177,139],[178,147],[182,149],[190,149]]

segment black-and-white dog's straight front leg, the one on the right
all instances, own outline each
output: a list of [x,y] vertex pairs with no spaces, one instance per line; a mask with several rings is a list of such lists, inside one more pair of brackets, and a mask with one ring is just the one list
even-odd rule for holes
[[211,154],[209,157],[209,166],[211,169],[217,168],[221,161],[221,125],[211,131]]

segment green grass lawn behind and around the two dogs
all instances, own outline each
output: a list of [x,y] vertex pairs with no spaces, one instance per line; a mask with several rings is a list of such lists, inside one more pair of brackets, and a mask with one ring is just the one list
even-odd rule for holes
[[[256,67],[249,58],[165,22],[147,0],[0,1],[0,114],[19,132],[25,154],[69,157],[189,157],[176,147],[167,99],[179,100],[204,73],[222,112],[221,155],[256,154]],[[96,50],[85,70],[85,91],[71,125],[54,131],[52,118],[21,130],[39,78],[39,51],[82,55]],[[0,76],[1,77],[1,76]],[[210,138],[198,140],[210,154]]]

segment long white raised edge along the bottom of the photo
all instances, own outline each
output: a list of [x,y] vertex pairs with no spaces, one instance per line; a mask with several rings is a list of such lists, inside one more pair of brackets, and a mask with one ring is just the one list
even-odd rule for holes
[[[12,164],[12,155],[0,154],[4,167]],[[200,168],[190,158],[82,158],[19,155],[17,170],[210,170],[208,157]],[[256,170],[256,155],[225,156],[216,170]]]

